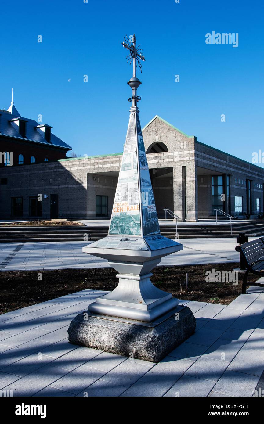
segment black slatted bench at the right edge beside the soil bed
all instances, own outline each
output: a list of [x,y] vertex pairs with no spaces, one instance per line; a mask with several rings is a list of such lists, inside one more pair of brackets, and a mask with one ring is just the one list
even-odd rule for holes
[[[259,238],[236,246],[236,251],[240,252],[242,255],[245,268],[247,268],[242,284],[242,293],[247,294],[246,285],[248,274],[252,272],[253,274],[264,276],[264,238]],[[250,285],[264,288],[264,284],[257,282],[250,283]]]

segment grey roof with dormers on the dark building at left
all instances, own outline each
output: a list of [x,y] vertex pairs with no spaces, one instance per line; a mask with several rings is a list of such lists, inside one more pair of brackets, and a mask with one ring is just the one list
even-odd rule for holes
[[[44,138],[44,132],[36,128],[39,126],[39,122],[34,121],[33,119],[28,119],[21,117],[20,113],[14,107],[14,103],[11,103],[9,109],[1,110],[0,109],[0,135],[6,135],[8,137],[16,137],[20,139],[26,139],[28,141],[33,141],[41,144],[53,145],[57,147],[64,148],[66,150],[72,150],[72,148],[66,144],[64,141],[56,137],[56,135],[51,133],[51,142],[48,142]],[[26,121],[26,138],[23,138],[19,132],[18,127],[14,122],[10,122],[10,120],[14,118],[20,118]]]

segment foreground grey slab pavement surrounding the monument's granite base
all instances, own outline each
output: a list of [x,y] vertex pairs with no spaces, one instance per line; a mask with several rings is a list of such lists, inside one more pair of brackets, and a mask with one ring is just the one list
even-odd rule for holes
[[[264,279],[261,279],[264,281]],[[68,343],[82,290],[0,315],[0,389],[13,396],[252,396],[264,370],[264,290],[228,306],[187,304],[197,331],[160,363]]]

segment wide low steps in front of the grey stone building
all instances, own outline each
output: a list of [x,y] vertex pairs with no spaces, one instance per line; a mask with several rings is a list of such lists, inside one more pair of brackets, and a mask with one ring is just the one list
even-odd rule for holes
[[[264,235],[264,220],[234,223],[230,236],[230,224],[218,223],[190,225],[178,224],[180,239],[206,237],[236,237],[239,232],[248,236]],[[108,226],[0,226],[0,243],[10,242],[48,242],[48,241],[95,241],[107,236]],[[160,225],[163,236],[175,239],[175,226]]]

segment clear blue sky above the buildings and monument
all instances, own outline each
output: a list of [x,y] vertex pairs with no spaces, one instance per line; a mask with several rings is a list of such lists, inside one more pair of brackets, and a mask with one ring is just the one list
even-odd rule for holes
[[[76,153],[121,152],[132,76],[121,42],[135,33],[146,56],[141,125],[157,114],[250,162],[264,151],[263,12],[262,0],[2,2],[0,109],[14,87],[20,114],[42,114]],[[206,45],[212,31],[239,33],[239,46]]]

